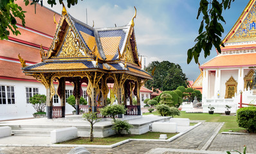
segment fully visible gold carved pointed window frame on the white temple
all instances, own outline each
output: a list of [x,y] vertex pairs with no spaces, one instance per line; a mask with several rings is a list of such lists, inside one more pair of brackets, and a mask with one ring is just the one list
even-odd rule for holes
[[232,98],[235,96],[235,93],[237,93],[237,81],[233,78],[233,76],[230,77],[228,81],[226,81],[226,94],[225,98]]

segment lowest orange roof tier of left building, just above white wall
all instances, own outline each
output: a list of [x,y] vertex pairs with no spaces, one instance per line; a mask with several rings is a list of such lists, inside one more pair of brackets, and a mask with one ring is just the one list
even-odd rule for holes
[[0,60],[0,70],[0,76],[2,77],[35,80],[32,76],[25,76],[19,63]]

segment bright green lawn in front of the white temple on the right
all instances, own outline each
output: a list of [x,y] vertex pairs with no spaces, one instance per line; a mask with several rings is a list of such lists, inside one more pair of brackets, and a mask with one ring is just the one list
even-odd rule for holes
[[[158,115],[157,112],[152,112],[151,114]],[[149,115],[149,112],[143,114]],[[236,116],[224,116],[222,114],[203,114],[203,113],[186,113],[185,111],[181,111],[180,116],[181,118],[188,118],[190,120],[205,120],[206,122],[224,122],[223,128],[219,131],[221,132],[228,132],[228,130],[233,130],[233,132],[243,132],[245,129],[238,126],[236,121]]]

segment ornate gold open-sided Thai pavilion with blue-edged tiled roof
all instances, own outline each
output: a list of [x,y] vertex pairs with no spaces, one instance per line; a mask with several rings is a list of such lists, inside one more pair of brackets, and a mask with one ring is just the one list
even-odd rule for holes
[[[46,87],[46,113],[48,119],[53,118],[53,96],[60,98],[60,110],[65,116],[65,85],[74,86],[73,94],[78,102],[82,96],[82,83],[87,84],[86,94],[89,97],[89,109],[97,112],[97,107],[106,105],[109,88],[107,83],[114,83],[113,92],[118,104],[127,105],[127,98],[132,94],[137,97],[138,104],[134,110],[140,112],[140,87],[151,74],[142,70],[138,56],[134,33],[134,18],[129,24],[114,28],[93,28],[74,19],[62,9],[57,30],[48,51],[41,49],[42,62],[26,66],[22,70],[27,76],[33,76]],[[55,90],[54,81],[58,81]],[[127,107],[127,106],[126,106]]]

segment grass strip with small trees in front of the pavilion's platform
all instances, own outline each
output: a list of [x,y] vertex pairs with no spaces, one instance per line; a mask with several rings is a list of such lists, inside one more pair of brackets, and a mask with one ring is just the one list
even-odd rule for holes
[[[126,139],[159,139],[160,137],[159,132],[147,132],[142,135],[125,135],[123,137],[120,137],[118,135],[113,135],[110,137],[105,138],[94,138],[93,142],[89,141],[88,137],[80,137],[77,139],[73,139],[70,141],[62,142],[61,144],[95,144],[95,145],[111,145],[116,142],[124,141]],[[173,137],[177,133],[165,133],[167,134],[167,137]]]

